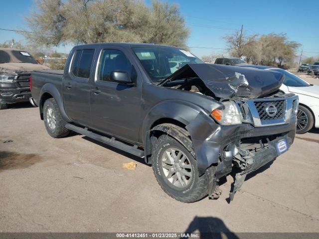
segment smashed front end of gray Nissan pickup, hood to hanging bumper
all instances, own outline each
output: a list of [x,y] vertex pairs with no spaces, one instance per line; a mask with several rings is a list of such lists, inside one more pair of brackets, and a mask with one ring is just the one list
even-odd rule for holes
[[234,170],[232,200],[247,174],[275,160],[293,143],[298,97],[278,91],[283,81],[278,72],[189,64],[163,83],[223,104],[208,115],[199,113],[186,125],[210,198],[219,197],[218,180]]

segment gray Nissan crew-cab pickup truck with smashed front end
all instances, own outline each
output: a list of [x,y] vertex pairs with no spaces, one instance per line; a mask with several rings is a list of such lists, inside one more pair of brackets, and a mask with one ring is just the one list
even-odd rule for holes
[[[219,179],[247,174],[292,145],[298,97],[276,71],[203,64],[154,44],[76,46],[64,71],[33,71],[32,102],[52,137],[70,130],[152,164],[181,202],[218,198]],[[70,150],[70,149],[69,149]]]

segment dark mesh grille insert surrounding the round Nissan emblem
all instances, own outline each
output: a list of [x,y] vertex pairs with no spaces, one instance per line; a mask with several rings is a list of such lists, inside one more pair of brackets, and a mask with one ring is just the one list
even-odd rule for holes
[[[269,120],[269,119],[283,119],[285,116],[285,101],[255,101],[254,102],[256,109],[259,114],[259,118],[261,120]],[[277,109],[276,114],[273,116],[269,115],[266,109],[269,106],[275,106]]]

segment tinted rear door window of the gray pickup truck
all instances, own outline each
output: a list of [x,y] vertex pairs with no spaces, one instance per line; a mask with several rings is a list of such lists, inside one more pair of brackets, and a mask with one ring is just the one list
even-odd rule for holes
[[76,77],[89,78],[94,57],[94,49],[77,50],[74,53],[71,72]]

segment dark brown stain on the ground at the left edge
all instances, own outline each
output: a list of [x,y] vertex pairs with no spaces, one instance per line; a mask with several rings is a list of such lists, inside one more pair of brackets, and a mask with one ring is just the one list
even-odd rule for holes
[[0,151],[0,172],[11,169],[28,168],[40,161],[42,161],[42,158],[34,153],[24,154]]

